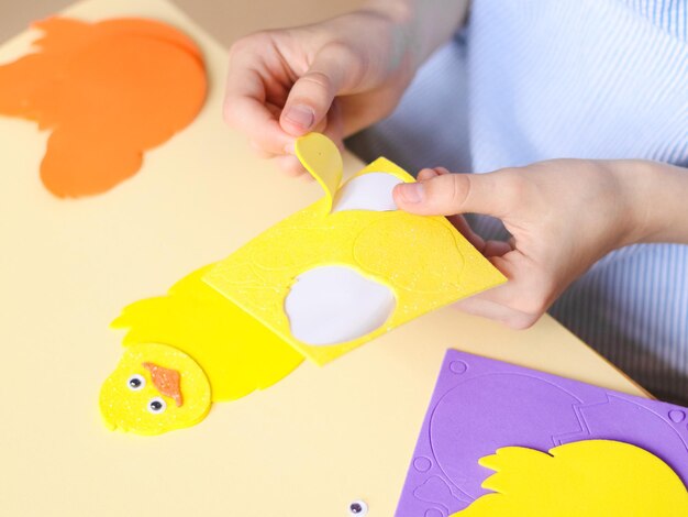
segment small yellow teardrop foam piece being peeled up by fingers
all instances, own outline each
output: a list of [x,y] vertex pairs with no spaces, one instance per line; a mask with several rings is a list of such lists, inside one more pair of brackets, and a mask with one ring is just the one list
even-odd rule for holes
[[325,191],[326,209],[330,211],[344,170],[340,151],[330,139],[320,133],[309,133],[297,139],[295,151],[301,165]]

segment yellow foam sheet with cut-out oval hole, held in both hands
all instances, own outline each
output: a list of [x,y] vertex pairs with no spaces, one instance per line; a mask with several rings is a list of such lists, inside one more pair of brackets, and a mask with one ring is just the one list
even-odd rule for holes
[[[296,148],[323,185],[325,197],[218,263],[204,279],[310,360],[324,364],[425,312],[506,282],[444,217],[375,208],[331,212],[341,162],[336,146],[322,135],[310,134],[299,139]],[[378,158],[351,182],[381,173],[399,182],[414,180],[393,163]],[[393,182],[377,193],[388,198],[392,187]],[[330,345],[306,343],[291,331],[285,300],[299,276],[334,265],[389,287],[395,309],[384,324],[365,336]],[[336,318],[335,311],[330,314]],[[341,318],[348,319],[346,315]]]

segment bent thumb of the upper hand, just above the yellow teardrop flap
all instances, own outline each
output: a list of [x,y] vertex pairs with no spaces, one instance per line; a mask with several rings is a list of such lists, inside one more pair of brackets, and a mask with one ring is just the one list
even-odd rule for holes
[[324,46],[309,70],[291,87],[279,118],[282,130],[300,136],[315,128],[328,114],[344,82],[345,61],[336,45]]

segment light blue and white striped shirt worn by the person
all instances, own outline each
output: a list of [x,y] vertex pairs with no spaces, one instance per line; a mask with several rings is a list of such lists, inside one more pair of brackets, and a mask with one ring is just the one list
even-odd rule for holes
[[[353,147],[411,169],[562,157],[688,167],[688,0],[475,0],[465,30]],[[474,226],[506,235],[490,218]],[[551,312],[655,395],[688,400],[688,245],[618,250]]]

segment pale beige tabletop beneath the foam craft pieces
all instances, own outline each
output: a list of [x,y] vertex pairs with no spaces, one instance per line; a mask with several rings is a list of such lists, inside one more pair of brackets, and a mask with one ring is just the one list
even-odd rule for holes
[[[237,2],[217,3],[225,21],[218,15],[214,30],[236,37],[258,28],[263,12],[273,25],[297,23],[313,12],[290,9],[319,2],[266,10],[271,2],[254,0],[260,11],[234,15]],[[8,12],[3,4],[2,30]],[[193,125],[147,153],[137,176],[77,201],[52,197],[38,180],[46,134],[0,119],[1,516],[336,517],[364,498],[370,516],[390,517],[447,348],[641,393],[550,318],[514,332],[448,308],[217,405],[192,429],[107,431],[97,399],[121,353],[121,334],[108,329],[120,308],[164,293],[320,193],[280,176],[224,127],[225,51],[181,11],[162,0],[90,0],[68,12],[182,28],[204,51],[211,91]],[[199,18],[212,21],[212,10]],[[0,62],[29,41],[4,45]],[[359,166],[346,157],[348,173]]]

